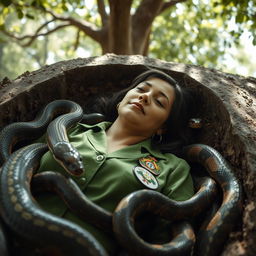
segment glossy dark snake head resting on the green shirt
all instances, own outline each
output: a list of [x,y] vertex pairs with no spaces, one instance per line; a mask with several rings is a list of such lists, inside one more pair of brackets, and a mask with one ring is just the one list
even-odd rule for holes
[[84,165],[79,152],[68,142],[58,142],[52,148],[55,159],[64,169],[74,176],[84,172]]

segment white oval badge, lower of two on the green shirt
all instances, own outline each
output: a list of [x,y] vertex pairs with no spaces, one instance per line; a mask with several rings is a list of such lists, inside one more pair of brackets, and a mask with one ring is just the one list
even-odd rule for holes
[[142,168],[140,166],[135,166],[133,168],[133,172],[134,172],[135,176],[138,178],[138,180],[146,187],[148,187],[150,189],[158,188],[157,179],[147,169]]

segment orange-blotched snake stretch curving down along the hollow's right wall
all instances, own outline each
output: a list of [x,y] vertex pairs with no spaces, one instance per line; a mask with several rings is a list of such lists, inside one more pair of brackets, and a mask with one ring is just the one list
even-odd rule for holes
[[220,185],[223,199],[206,228],[198,234],[199,255],[219,255],[224,242],[242,213],[242,188],[239,180],[223,156],[212,147],[193,144],[184,148],[190,162],[201,163]]

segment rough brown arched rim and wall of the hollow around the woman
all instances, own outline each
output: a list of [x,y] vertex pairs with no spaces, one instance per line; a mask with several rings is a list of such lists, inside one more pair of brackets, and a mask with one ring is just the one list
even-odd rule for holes
[[244,189],[243,216],[222,255],[256,255],[255,78],[137,55],[63,61],[0,83],[0,127],[33,120],[42,106],[55,99],[71,99],[86,109],[94,95],[124,88],[146,67],[161,69],[198,91],[204,120],[199,142],[222,153]]

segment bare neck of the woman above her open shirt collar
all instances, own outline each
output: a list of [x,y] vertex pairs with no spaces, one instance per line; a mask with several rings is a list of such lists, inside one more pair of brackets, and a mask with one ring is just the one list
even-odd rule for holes
[[107,135],[107,152],[111,153],[122,149],[126,146],[137,144],[147,137],[145,135],[136,134],[136,131],[124,124],[119,119],[110,126],[106,131]]

